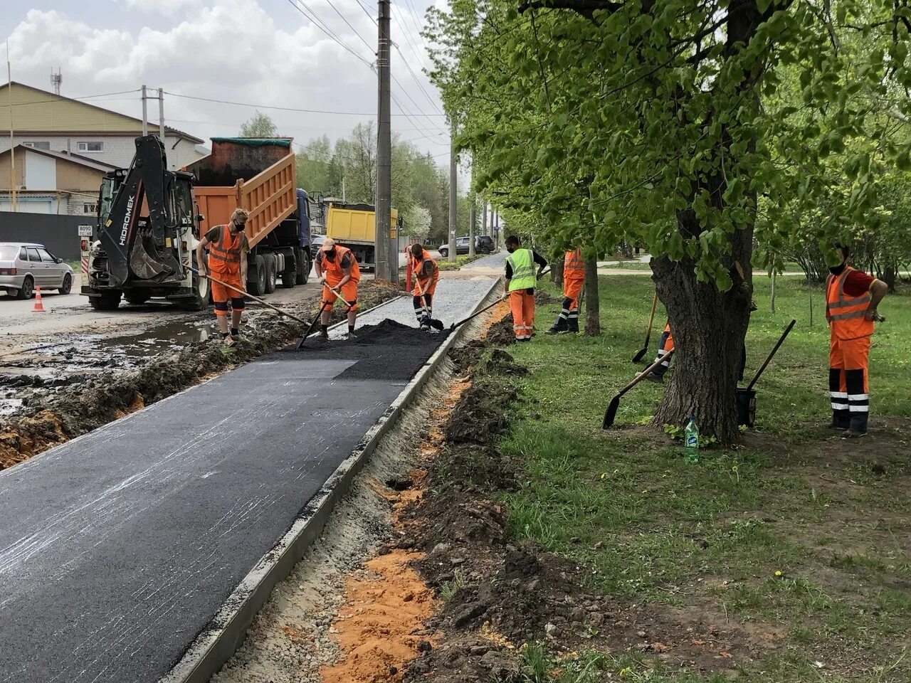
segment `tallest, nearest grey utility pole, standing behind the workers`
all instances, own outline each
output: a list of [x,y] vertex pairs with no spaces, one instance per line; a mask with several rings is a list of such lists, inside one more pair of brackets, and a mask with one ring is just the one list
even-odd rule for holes
[[[392,124],[389,104],[390,37],[389,17],[392,12],[390,0],[379,0],[379,41],[376,50],[376,76],[379,87],[377,105],[376,140],[376,277],[380,280],[398,281],[398,250],[390,243],[390,214],[392,212]],[[393,263],[393,256],[395,262]]]

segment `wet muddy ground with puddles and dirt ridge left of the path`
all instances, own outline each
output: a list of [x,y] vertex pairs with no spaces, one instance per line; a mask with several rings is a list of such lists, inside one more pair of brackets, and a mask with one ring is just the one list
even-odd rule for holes
[[[369,280],[359,293],[365,311],[402,292]],[[304,319],[316,297],[286,308]],[[200,313],[135,335],[111,339],[70,335],[26,353],[0,356],[0,469],[167,398],[299,339],[302,325],[268,309],[248,309],[241,342],[223,348],[214,316]],[[342,319],[333,309],[333,322]],[[12,356],[12,357],[11,357]]]

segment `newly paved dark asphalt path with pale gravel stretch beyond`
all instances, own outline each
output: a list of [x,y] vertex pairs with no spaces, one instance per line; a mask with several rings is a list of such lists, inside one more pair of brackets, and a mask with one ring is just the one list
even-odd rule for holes
[[[441,281],[435,317],[448,328],[492,285]],[[358,326],[356,342],[272,353],[0,473],[0,681],[200,679],[193,648],[218,647],[239,586],[450,339],[414,329],[410,297]]]

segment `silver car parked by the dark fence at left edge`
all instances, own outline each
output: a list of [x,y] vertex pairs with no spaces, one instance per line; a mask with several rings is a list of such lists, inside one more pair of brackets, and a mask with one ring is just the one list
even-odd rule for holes
[[73,288],[73,269],[43,244],[0,242],[0,291],[16,299],[31,299],[36,287],[68,294]]

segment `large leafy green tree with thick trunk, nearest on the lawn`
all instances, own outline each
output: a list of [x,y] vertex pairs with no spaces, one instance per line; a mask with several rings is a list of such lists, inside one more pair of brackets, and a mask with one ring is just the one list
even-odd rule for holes
[[[558,243],[645,244],[678,349],[655,421],[732,442],[758,206],[830,259],[869,220],[873,159],[908,158],[871,117],[907,114],[905,0],[455,0],[432,18],[476,189],[506,186]],[[794,221],[853,140],[850,194]]]

